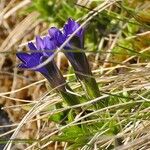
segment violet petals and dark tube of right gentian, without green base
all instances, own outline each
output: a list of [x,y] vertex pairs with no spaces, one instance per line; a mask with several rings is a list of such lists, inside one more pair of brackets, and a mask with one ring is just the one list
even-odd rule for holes
[[[60,47],[70,35],[80,27],[76,21],[68,19],[63,27],[63,31],[52,27],[49,29],[49,35],[55,39],[56,45]],[[79,79],[85,78],[87,75],[92,75],[84,47],[84,29],[81,28],[74,37],[64,46],[64,53],[72,64],[76,75]]]

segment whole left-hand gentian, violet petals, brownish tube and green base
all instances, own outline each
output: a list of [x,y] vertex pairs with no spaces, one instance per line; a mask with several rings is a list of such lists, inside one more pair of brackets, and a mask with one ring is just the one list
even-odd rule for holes
[[[56,42],[53,38],[46,36],[43,39],[39,36],[36,37],[35,44],[28,43],[30,54],[21,52],[17,53],[17,57],[22,61],[19,68],[33,70],[34,67],[43,63],[49,56],[53,55],[56,49]],[[78,104],[79,100],[75,95],[67,92],[72,91],[65,78],[61,74],[54,60],[45,66],[35,69],[34,71],[40,72],[50,83],[52,88],[56,88],[62,97],[69,105]]]

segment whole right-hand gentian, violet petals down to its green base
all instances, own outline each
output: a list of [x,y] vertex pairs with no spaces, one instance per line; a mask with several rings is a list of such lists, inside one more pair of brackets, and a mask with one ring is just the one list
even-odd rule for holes
[[[63,31],[53,27],[49,29],[49,35],[56,41],[60,47],[70,35],[80,27],[76,21],[68,19],[63,27]],[[75,70],[75,74],[81,80],[86,88],[90,98],[100,96],[98,85],[92,75],[84,48],[84,28],[81,28],[74,37],[64,46],[64,54],[70,61]]]

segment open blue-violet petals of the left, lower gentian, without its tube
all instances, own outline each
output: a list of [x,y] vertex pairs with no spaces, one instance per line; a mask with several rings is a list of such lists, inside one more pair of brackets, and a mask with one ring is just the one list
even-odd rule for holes
[[[56,49],[55,42],[46,36],[43,39],[39,36],[36,37],[35,45],[31,42],[28,43],[30,54],[21,52],[17,53],[17,57],[22,61],[19,68],[31,69],[42,63],[43,57],[48,57],[53,54]],[[44,51],[45,50],[45,51]],[[46,51],[47,50],[47,51]],[[41,73],[46,73],[45,67],[36,69]]]

